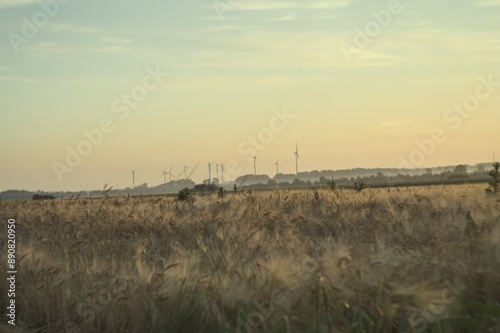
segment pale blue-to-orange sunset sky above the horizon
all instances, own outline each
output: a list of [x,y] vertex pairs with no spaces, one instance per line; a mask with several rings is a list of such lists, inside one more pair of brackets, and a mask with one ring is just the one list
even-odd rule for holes
[[500,0],[0,0],[0,191],[500,157]]

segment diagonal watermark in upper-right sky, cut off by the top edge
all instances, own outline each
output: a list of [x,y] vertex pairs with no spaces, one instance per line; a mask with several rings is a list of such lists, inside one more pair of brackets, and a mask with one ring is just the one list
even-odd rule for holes
[[385,9],[372,11],[373,20],[368,21],[363,28],[356,27],[352,42],[340,44],[340,50],[347,62],[352,63],[352,57],[370,46],[372,41],[380,36],[383,29],[392,23],[394,16],[401,14],[402,11],[403,5],[399,0],[389,1]]

